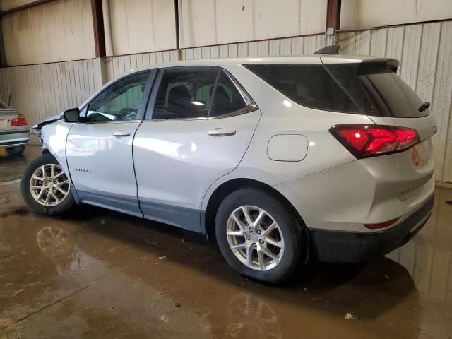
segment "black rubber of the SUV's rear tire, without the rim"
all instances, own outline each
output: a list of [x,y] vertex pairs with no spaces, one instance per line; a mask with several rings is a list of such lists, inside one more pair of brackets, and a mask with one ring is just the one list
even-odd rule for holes
[[[283,257],[278,265],[270,270],[254,270],[246,266],[234,255],[227,241],[227,220],[234,210],[246,205],[256,206],[270,213],[283,233]],[[308,234],[304,222],[290,206],[261,189],[239,189],[227,196],[218,208],[215,235],[222,255],[234,270],[246,278],[268,285],[283,283],[291,278],[307,262],[309,255]]]

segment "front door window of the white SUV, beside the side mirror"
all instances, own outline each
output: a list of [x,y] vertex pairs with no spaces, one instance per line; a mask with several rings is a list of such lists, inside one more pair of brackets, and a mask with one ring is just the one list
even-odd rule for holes
[[149,72],[128,76],[109,88],[88,105],[88,122],[135,120]]

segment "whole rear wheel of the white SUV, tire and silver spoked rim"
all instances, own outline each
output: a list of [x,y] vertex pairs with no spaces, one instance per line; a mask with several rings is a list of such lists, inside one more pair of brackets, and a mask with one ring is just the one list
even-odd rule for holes
[[[262,221],[256,227],[251,227],[246,222],[243,206],[249,211],[251,221],[255,222],[258,213],[263,210]],[[232,217],[232,213],[235,215]],[[237,220],[242,225],[239,227]],[[269,227],[276,222],[277,227]],[[246,229],[244,236],[237,237],[229,234],[240,234],[242,228]],[[270,230],[270,234],[266,234]],[[259,233],[258,233],[259,232]],[[264,235],[266,234],[266,235]],[[266,191],[254,188],[244,188],[232,192],[222,203],[215,218],[215,235],[222,256],[229,265],[239,274],[268,285],[283,283],[292,277],[297,270],[307,262],[309,255],[309,242],[307,228],[295,211],[278,200],[278,197],[268,194]],[[270,235],[270,239],[268,239]],[[246,236],[250,238],[247,239]],[[277,242],[279,247],[267,242]],[[251,242],[251,252],[246,248],[232,249],[232,246],[244,246],[243,242]],[[265,247],[265,249],[264,249]],[[250,247],[251,248],[251,247]],[[267,256],[270,250],[271,255]],[[261,251],[261,256],[258,252]],[[262,252],[266,251],[263,254]],[[281,252],[283,251],[283,252]],[[251,253],[251,261],[247,254]],[[265,265],[261,266],[261,262]]]

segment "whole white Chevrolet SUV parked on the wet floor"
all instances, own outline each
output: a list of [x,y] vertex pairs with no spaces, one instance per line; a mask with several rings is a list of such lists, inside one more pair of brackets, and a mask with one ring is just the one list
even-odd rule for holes
[[434,201],[436,122],[397,67],[314,54],[132,71],[39,126],[23,197],[37,213],[88,203],[201,232],[264,283],[309,258],[369,261]]

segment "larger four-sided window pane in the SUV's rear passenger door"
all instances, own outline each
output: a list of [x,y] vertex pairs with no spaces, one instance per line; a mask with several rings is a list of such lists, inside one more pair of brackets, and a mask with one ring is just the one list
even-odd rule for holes
[[215,69],[165,71],[153,120],[207,118],[217,76]]

